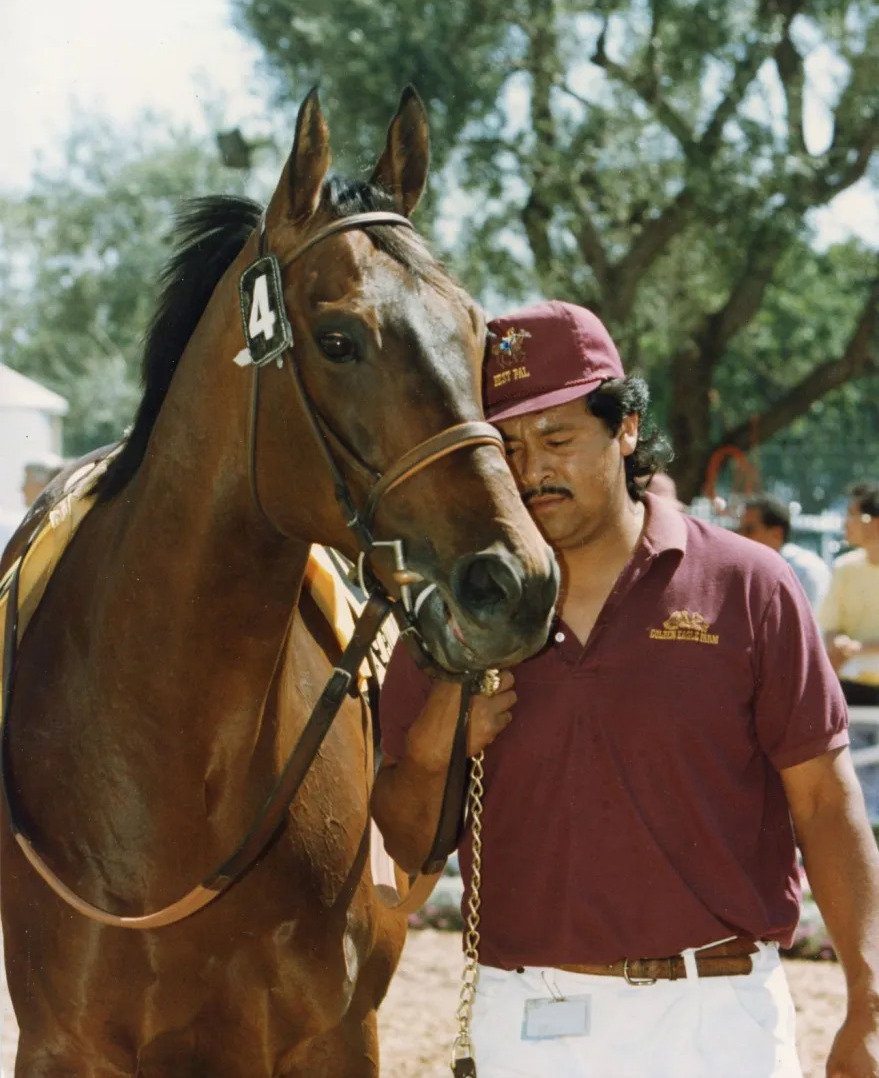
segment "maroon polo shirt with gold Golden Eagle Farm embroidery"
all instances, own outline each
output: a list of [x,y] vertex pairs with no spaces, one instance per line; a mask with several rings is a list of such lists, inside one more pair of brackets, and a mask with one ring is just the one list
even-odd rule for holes
[[[737,934],[784,945],[796,927],[779,772],[848,744],[839,682],[782,557],[646,505],[586,646],[559,622],[513,668],[512,721],[485,750],[486,965],[657,957]],[[428,692],[398,648],[389,756]],[[469,886],[469,834],[461,862]]]

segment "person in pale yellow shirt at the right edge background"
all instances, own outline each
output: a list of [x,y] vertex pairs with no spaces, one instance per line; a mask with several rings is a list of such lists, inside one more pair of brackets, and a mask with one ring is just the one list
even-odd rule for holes
[[819,624],[846,700],[879,704],[879,482],[850,487],[846,540]]

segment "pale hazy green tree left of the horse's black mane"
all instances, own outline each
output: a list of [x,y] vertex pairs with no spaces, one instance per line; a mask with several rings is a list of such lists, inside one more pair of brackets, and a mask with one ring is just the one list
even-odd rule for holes
[[239,188],[216,150],[145,118],[80,119],[66,165],[0,198],[0,358],[70,401],[65,452],[115,441],[140,398],[140,344],[176,207]]

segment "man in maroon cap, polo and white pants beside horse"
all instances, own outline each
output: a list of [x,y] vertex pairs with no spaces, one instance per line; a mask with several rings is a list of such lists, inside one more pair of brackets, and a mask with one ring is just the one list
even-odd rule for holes
[[[791,817],[849,983],[828,1075],[876,1078],[879,855],[802,590],[643,495],[665,454],[594,315],[550,302],[490,328],[486,415],[563,583],[548,646],[470,710],[479,1078],[799,1076],[777,951],[798,917]],[[409,870],[459,699],[395,653],[373,810]],[[468,832],[468,889],[472,856]]]

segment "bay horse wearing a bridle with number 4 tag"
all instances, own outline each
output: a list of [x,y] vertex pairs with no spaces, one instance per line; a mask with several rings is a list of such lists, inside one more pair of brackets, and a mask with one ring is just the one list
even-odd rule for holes
[[246,871],[149,926],[242,842],[340,662],[312,543],[362,555],[452,674],[546,638],[557,569],[483,421],[483,317],[409,224],[427,163],[410,88],[369,181],[328,177],[312,92],[263,215],[182,219],[135,424],[9,679],[17,1078],[379,1074],[406,924],[370,879],[356,693]]

